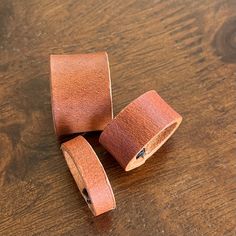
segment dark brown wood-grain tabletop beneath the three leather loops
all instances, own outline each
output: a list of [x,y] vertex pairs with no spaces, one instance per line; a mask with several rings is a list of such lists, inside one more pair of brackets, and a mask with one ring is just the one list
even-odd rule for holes
[[[49,54],[108,51],[114,111],[156,89],[184,121],[93,217],[54,136]],[[236,235],[235,0],[1,0],[0,235]]]

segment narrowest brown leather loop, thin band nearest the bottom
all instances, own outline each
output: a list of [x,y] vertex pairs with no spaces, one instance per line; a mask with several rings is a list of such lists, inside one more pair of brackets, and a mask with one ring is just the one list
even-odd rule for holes
[[92,213],[97,216],[116,207],[107,175],[90,144],[78,136],[61,145],[74,180]]

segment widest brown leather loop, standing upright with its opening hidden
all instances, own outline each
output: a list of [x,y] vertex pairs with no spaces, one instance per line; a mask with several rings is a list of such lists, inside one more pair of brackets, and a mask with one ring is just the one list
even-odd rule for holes
[[107,53],[51,55],[50,65],[56,134],[103,130],[113,118]]

